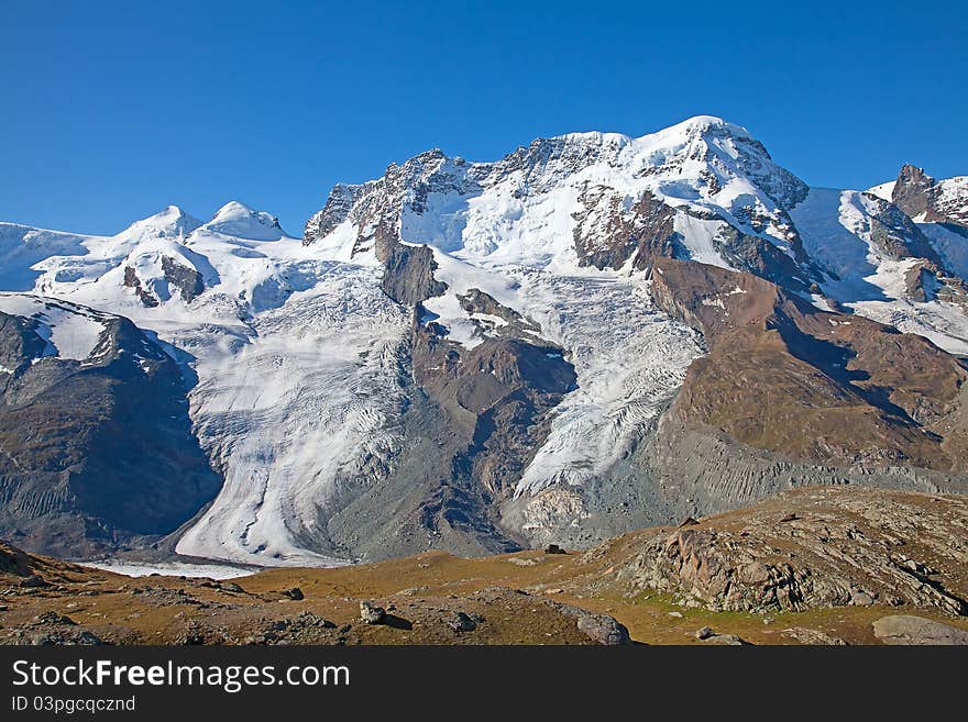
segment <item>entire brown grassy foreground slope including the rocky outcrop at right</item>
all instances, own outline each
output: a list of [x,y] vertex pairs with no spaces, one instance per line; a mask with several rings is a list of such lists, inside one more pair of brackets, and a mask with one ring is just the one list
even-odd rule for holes
[[[647,644],[873,644],[886,617],[968,631],[966,599],[968,498],[849,487],[585,553],[430,552],[228,581],[133,579],[0,545],[6,644],[596,644],[625,630]],[[383,619],[362,620],[361,602]]]

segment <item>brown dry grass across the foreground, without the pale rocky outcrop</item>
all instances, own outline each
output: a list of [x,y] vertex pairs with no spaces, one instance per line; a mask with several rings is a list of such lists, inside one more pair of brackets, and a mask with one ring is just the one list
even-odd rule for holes
[[[337,627],[352,625],[352,630],[344,634],[346,643],[587,643],[575,632],[572,620],[547,613],[541,600],[553,599],[609,614],[629,629],[635,641],[646,644],[704,644],[695,638],[696,630],[703,626],[711,626],[721,634],[737,634],[754,644],[799,644],[787,632],[795,627],[820,631],[850,644],[873,644],[877,640],[871,633],[871,622],[886,614],[905,613],[904,608],[878,606],[768,615],[710,612],[683,609],[661,595],[626,597],[617,589],[593,596],[583,593],[591,582],[601,580],[602,570],[607,570],[612,555],[615,555],[615,562],[619,560],[625,546],[623,542],[613,544],[605,556],[594,563],[578,554],[524,552],[464,559],[430,552],[359,567],[273,569],[235,579],[246,592],[241,595],[202,586],[205,580],[178,577],[131,579],[52,563],[38,571],[55,587],[33,593],[24,593],[18,588],[15,593],[2,597],[8,609],[0,611],[0,625],[10,631],[30,624],[37,614],[54,611],[69,615],[84,629],[117,643],[172,643],[184,636],[187,629],[199,626],[228,631],[234,641],[240,641],[260,624],[264,625],[266,620],[293,618],[310,611],[332,621]],[[522,566],[509,562],[510,558],[532,564]],[[15,577],[0,576],[0,585],[15,581]],[[150,596],[131,593],[133,588],[148,585],[184,591],[210,607],[193,603],[163,606]],[[292,587],[299,587],[305,599],[286,599],[282,592]],[[529,596],[512,595],[490,603],[473,598],[474,592],[494,587],[527,590]],[[603,588],[608,589],[607,584]],[[88,596],[89,592],[96,593]],[[414,622],[413,627],[361,624],[359,601],[363,599],[394,604],[397,608],[394,613]],[[455,635],[433,623],[433,614],[450,608],[480,612],[487,621],[474,633]],[[968,621],[964,619],[952,620],[926,610],[906,611],[968,630]],[[767,620],[772,621],[765,623]]]

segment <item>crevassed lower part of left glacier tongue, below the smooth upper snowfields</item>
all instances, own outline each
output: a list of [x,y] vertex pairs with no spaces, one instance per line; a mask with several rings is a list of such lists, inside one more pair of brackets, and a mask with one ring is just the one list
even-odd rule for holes
[[320,508],[367,457],[389,460],[408,316],[372,268],[333,265],[255,337],[198,365],[193,420],[226,469],[221,493],[178,542],[180,554],[231,562],[333,566],[296,532],[324,535]]

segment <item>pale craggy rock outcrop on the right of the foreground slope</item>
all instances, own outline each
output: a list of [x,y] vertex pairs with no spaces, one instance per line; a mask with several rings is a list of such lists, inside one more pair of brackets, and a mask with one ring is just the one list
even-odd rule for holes
[[685,607],[906,604],[966,614],[966,530],[964,497],[809,488],[635,533],[586,556],[607,556],[623,588],[672,595]]

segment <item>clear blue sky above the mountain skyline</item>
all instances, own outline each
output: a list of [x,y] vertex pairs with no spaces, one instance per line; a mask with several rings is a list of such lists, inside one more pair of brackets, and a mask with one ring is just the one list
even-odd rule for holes
[[0,220],[44,227],[239,199],[298,235],[430,147],[696,114],[812,185],[968,174],[958,2],[0,0]]

